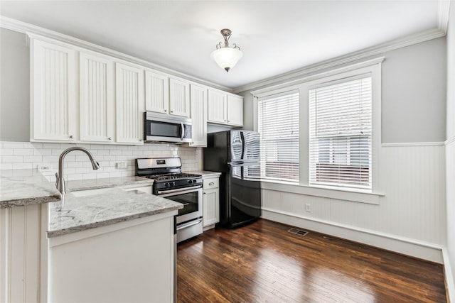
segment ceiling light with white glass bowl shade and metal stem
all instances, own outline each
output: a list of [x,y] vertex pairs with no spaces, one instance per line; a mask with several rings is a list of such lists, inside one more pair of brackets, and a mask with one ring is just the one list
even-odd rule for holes
[[231,48],[229,46],[229,38],[231,34],[230,29],[223,28],[220,33],[225,39],[225,45],[222,46],[221,42],[218,43],[216,45],[216,50],[213,50],[210,57],[212,57],[212,59],[215,60],[216,64],[223,68],[223,70],[229,72],[232,67],[235,67],[243,54],[240,48],[235,45],[235,43],[234,47]]

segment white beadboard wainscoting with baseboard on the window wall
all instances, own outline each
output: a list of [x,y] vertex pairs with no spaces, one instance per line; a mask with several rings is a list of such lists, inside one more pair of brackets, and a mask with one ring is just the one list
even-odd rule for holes
[[382,145],[379,204],[263,189],[262,217],[442,263],[444,149],[444,143]]

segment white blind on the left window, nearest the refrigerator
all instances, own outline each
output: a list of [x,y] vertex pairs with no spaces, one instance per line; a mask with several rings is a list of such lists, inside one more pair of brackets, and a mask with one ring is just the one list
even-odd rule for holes
[[299,182],[299,92],[258,101],[261,177]]

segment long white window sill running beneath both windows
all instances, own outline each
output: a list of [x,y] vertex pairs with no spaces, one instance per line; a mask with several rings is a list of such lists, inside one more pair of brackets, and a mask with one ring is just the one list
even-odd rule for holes
[[291,182],[261,181],[262,189],[277,190],[279,192],[291,192],[293,194],[306,194],[314,197],[324,197],[350,202],[360,202],[366,204],[379,204],[380,197],[385,194],[377,192],[353,192],[343,189],[328,189],[321,187],[310,187]]

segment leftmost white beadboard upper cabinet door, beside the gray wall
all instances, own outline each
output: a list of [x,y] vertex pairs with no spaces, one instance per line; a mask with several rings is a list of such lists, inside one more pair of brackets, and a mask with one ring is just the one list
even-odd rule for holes
[[31,40],[31,141],[75,141],[76,51]]

